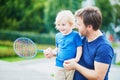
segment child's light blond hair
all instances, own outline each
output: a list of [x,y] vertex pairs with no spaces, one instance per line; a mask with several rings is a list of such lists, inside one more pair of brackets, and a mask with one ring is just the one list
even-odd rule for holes
[[74,25],[75,18],[74,14],[70,10],[62,10],[58,12],[55,24],[59,23],[61,20],[66,20],[70,25]]

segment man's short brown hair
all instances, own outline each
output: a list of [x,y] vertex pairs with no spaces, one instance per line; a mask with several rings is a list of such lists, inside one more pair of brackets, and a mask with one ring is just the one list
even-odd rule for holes
[[85,26],[92,25],[94,30],[98,30],[102,23],[102,14],[97,7],[85,7],[75,12],[75,17],[83,19]]

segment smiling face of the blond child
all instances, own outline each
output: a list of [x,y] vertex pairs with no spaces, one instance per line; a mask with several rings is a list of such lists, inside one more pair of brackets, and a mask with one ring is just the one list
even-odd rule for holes
[[72,25],[70,25],[66,20],[61,20],[56,24],[56,29],[59,30],[63,35],[66,35],[72,31]]

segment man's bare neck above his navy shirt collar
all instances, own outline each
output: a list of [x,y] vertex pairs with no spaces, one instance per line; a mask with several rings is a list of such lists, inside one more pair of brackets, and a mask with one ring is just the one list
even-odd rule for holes
[[101,35],[102,35],[102,32],[100,30],[90,32],[87,36],[88,42],[94,41]]

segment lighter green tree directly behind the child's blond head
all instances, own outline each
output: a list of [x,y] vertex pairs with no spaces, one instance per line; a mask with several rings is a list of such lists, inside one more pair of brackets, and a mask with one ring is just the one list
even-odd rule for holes
[[61,10],[75,11],[80,8],[82,0],[48,0],[45,5],[45,26],[47,31],[55,31],[55,17]]

